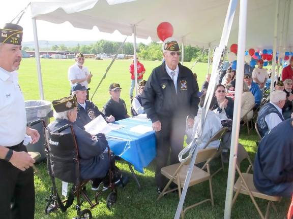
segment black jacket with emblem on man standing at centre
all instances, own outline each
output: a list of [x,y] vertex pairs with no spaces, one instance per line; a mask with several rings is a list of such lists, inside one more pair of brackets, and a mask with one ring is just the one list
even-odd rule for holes
[[165,62],[153,69],[141,95],[144,112],[152,122],[160,117],[194,118],[197,115],[199,97],[198,85],[192,71],[179,65],[177,93],[174,83],[167,74]]

